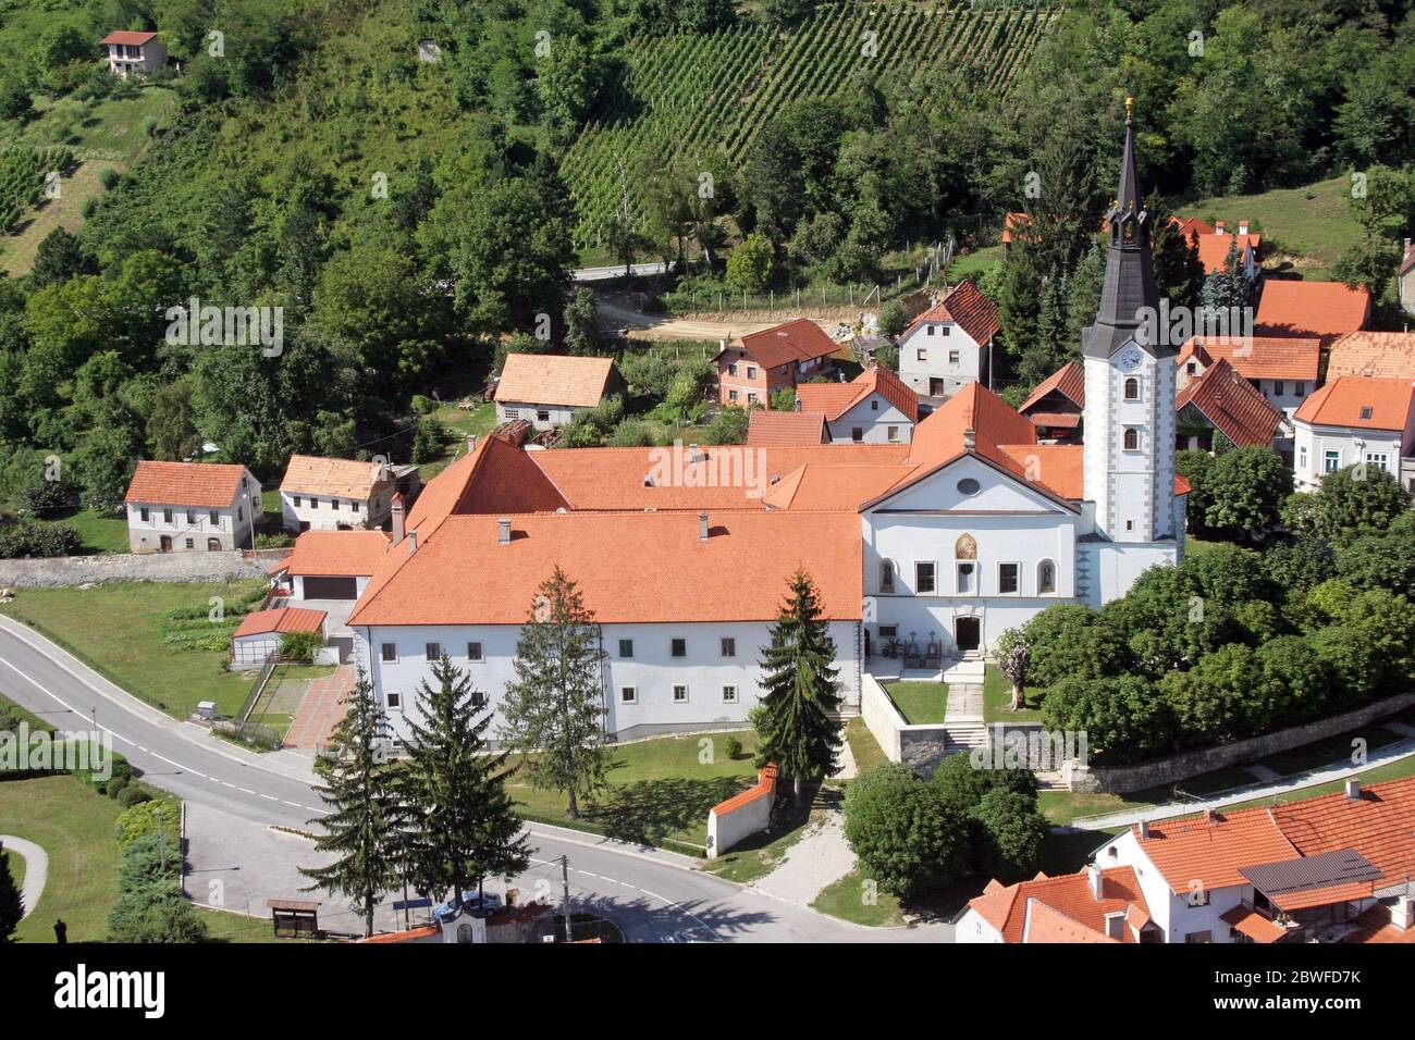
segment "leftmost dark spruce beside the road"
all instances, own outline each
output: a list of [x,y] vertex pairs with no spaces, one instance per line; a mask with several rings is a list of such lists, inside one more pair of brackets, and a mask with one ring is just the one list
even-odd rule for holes
[[337,853],[337,859],[313,870],[300,867],[314,882],[306,891],[337,891],[362,910],[365,937],[374,934],[374,907],[398,877],[400,807],[395,768],[383,753],[383,734],[374,688],[359,669],[348,713],[334,727],[338,757],[317,788],[331,812],[310,821],[324,829],[314,848]]

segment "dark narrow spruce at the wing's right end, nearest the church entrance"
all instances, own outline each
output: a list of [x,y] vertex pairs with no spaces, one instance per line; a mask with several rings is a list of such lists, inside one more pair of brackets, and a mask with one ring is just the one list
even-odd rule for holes
[[771,761],[795,785],[801,802],[807,781],[839,770],[843,741],[841,723],[831,717],[841,706],[836,693],[835,641],[821,618],[821,597],[805,570],[791,576],[791,596],[771,625],[764,648],[766,672],[757,717],[761,758]]

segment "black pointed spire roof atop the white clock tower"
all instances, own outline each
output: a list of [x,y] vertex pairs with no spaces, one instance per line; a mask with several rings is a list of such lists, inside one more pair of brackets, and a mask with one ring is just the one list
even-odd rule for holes
[[[1155,270],[1150,259],[1150,215],[1140,198],[1140,178],[1135,168],[1135,120],[1132,99],[1125,100],[1125,156],[1121,160],[1121,185],[1115,204],[1107,211],[1111,249],[1105,260],[1105,286],[1095,324],[1081,331],[1081,349],[1088,358],[1108,358],[1129,340],[1139,338],[1142,308],[1153,314],[1159,307]],[[1173,347],[1150,345],[1160,357],[1174,354]]]

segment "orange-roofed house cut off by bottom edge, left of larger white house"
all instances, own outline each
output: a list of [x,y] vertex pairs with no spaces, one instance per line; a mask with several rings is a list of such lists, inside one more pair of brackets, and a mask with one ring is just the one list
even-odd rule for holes
[[988,883],[954,928],[955,942],[1159,942],[1135,869],[1094,863],[1074,874]]

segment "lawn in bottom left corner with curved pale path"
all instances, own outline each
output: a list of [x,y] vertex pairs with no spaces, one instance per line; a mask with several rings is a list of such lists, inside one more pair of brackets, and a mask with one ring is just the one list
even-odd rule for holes
[[40,906],[20,923],[21,942],[54,942],[54,921],[69,942],[98,942],[117,900],[117,840],[122,807],[74,777],[0,782],[0,833],[27,838],[50,856]]

